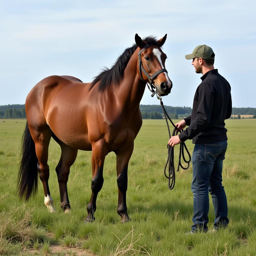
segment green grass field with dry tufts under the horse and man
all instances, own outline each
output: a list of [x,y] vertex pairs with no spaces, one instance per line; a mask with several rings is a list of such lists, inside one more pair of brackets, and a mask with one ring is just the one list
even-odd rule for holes
[[[256,120],[226,122],[229,140],[223,185],[229,205],[228,228],[190,236],[185,232],[190,230],[193,214],[192,169],[180,171],[175,188],[168,190],[163,174],[168,142],[164,120],[143,120],[135,140],[127,190],[132,221],[126,224],[120,223],[116,212],[114,153],[106,157],[94,223],[83,223],[91,196],[91,152],[80,151],[71,167],[69,213],[60,209],[55,173],[60,148],[53,140],[49,149],[49,187],[57,211],[47,212],[40,180],[35,198],[28,202],[18,199],[16,183],[25,122],[0,123],[0,255],[86,255],[86,251],[102,256],[256,255]],[[192,153],[191,141],[186,144]],[[177,157],[178,148],[175,153]],[[213,221],[210,200],[209,230],[213,229]],[[60,244],[63,250],[54,252],[50,244]]]

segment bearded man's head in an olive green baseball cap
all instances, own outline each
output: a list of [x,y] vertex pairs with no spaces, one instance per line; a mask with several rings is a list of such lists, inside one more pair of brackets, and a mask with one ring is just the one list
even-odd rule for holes
[[199,45],[192,54],[185,55],[187,60],[193,59],[191,64],[194,65],[196,73],[202,74],[214,69],[214,57],[212,48],[207,45]]

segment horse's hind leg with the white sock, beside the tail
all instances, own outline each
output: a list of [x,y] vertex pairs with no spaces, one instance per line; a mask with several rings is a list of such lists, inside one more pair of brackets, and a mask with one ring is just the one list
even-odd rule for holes
[[51,197],[49,185],[48,185],[50,173],[49,173],[49,166],[47,164],[48,148],[49,148],[52,131],[47,124],[37,127],[36,129],[29,126],[29,130],[35,142],[36,156],[38,159],[37,169],[38,169],[39,178],[43,184],[44,193],[45,193],[44,202],[48,210],[50,212],[54,212],[55,208],[53,205],[53,199]]

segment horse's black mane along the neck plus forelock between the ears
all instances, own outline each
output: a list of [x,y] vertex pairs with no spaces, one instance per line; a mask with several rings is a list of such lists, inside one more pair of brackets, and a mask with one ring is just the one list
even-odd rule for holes
[[[152,36],[143,38],[143,41],[145,44],[159,46],[159,43],[157,42],[156,38]],[[123,78],[124,69],[126,68],[131,56],[133,55],[137,47],[138,46],[136,44],[133,44],[132,47],[126,48],[124,52],[118,57],[118,59],[111,67],[111,69],[105,67],[102,70],[102,72],[98,74],[97,77],[94,77],[94,80],[92,81],[89,90],[91,90],[92,87],[99,81],[100,83],[98,86],[98,90],[101,92],[111,87],[112,85],[118,85],[121,79]]]

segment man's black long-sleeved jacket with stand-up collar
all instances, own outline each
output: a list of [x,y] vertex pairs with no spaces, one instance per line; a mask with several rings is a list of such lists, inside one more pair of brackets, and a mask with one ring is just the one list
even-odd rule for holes
[[213,69],[205,73],[196,89],[191,116],[185,118],[189,127],[179,134],[181,141],[215,143],[227,140],[225,119],[230,118],[232,101],[230,84]]

